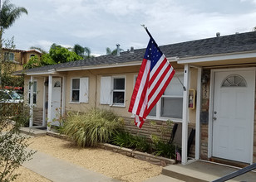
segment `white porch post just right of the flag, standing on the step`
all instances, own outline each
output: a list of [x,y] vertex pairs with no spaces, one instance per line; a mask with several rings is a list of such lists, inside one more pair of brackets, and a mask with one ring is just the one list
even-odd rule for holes
[[189,116],[189,87],[190,87],[190,65],[185,65],[184,68],[184,86],[186,90],[183,93],[183,113],[182,113],[182,142],[181,142],[181,148],[182,148],[182,158],[181,158],[181,164],[185,165],[188,161],[188,119]]

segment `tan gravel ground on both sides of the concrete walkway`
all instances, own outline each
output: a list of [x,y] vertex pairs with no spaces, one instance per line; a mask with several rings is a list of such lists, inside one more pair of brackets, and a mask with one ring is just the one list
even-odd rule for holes
[[[140,182],[160,175],[161,167],[99,148],[78,148],[70,141],[52,136],[31,138],[30,148],[42,151],[88,170],[99,172],[117,180]],[[32,172],[29,170],[29,172]],[[21,176],[22,177],[22,176]],[[40,176],[41,177],[41,176]],[[36,177],[37,178],[37,177]],[[27,181],[27,180],[17,180]],[[29,181],[48,181],[37,179]]]

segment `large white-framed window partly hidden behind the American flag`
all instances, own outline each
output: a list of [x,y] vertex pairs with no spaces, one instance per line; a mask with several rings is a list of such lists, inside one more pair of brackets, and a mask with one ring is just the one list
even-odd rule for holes
[[[177,76],[180,80],[183,80],[183,74],[177,74]],[[165,93],[150,111],[149,116],[156,118],[182,118],[183,92],[183,87],[179,79],[173,77],[170,84],[165,89]]]

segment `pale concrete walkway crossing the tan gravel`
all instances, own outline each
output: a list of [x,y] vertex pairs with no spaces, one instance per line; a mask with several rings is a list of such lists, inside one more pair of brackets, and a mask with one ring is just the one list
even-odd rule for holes
[[26,161],[23,166],[54,182],[119,181],[91,170],[86,170],[80,166],[73,165],[65,160],[49,156],[40,151],[37,151],[37,153],[32,156],[32,160]]

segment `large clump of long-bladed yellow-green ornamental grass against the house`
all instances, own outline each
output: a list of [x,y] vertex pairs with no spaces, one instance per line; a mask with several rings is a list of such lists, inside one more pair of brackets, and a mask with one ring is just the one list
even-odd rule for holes
[[111,111],[91,109],[87,113],[68,113],[63,132],[77,146],[96,146],[110,141],[122,124],[123,119]]

